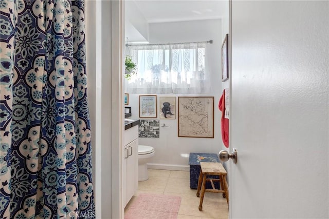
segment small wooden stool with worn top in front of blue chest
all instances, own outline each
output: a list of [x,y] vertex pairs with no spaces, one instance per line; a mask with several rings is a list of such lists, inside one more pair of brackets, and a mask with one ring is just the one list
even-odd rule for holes
[[[223,197],[226,197],[226,201],[228,204],[228,189],[227,189],[227,182],[226,182],[226,170],[224,169],[221,163],[211,163],[211,162],[200,162],[201,170],[199,175],[199,180],[197,184],[197,192],[196,196],[200,195],[200,188],[201,188],[201,197],[200,197],[200,204],[199,210],[202,210],[202,203],[204,201],[205,192],[222,192]],[[208,175],[217,175],[220,178],[207,178]],[[212,189],[206,189],[206,182],[210,181]],[[215,189],[213,181],[220,181],[221,189]],[[202,186],[201,186],[202,185]]]

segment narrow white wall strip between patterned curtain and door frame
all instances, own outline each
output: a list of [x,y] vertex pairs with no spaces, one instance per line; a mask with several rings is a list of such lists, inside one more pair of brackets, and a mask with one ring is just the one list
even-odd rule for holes
[[[101,178],[101,2],[85,2],[86,18],[86,67],[88,79],[88,104],[93,150],[93,186],[95,196],[96,218],[101,218],[102,212],[102,178]],[[96,25],[99,24],[99,25]],[[98,157],[98,158],[97,158]],[[96,168],[97,167],[97,168]],[[111,203],[109,204],[111,205]]]

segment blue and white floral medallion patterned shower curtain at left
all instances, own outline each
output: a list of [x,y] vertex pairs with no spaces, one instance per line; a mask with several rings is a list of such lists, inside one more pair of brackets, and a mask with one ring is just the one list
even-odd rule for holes
[[0,10],[0,218],[95,218],[84,2]]

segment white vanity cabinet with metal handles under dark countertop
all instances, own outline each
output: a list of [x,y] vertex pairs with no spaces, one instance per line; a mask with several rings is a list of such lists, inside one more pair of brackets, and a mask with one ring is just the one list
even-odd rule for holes
[[122,162],[123,206],[138,189],[138,125],[124,131]]

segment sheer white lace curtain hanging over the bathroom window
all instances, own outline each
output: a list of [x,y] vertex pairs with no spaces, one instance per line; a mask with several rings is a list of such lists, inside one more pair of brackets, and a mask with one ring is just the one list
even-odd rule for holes
[[203,94],[210,90],[205,69],[207,43],[127,45],[137,74],[127,81],[136,94]]

